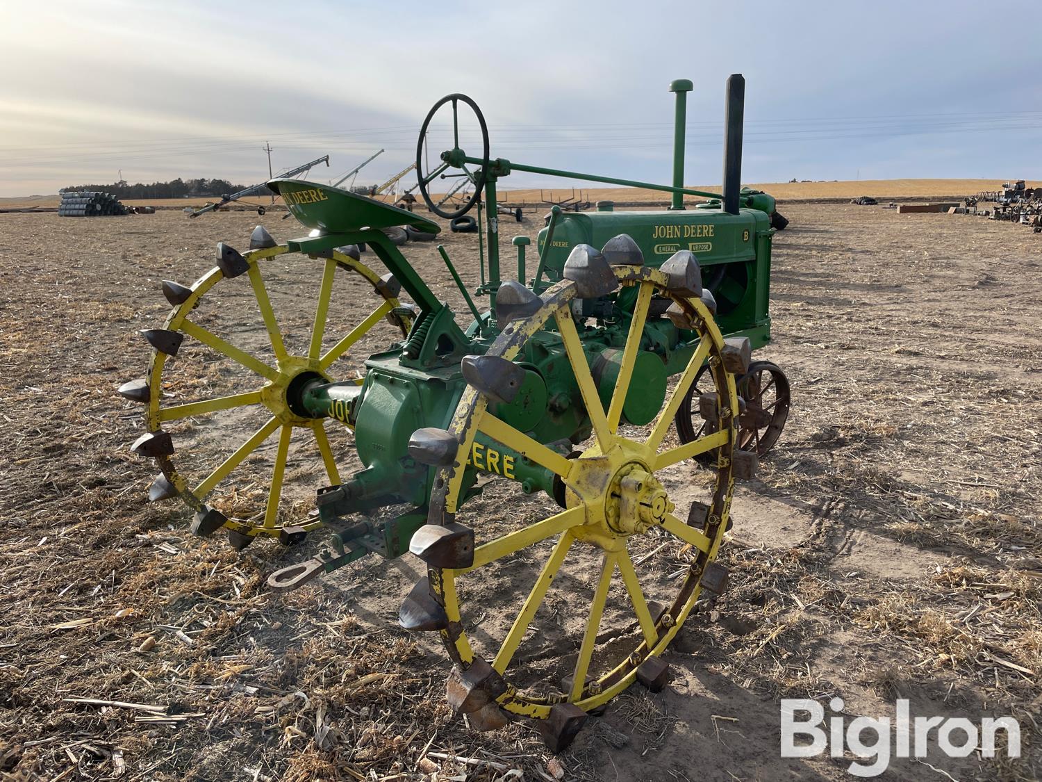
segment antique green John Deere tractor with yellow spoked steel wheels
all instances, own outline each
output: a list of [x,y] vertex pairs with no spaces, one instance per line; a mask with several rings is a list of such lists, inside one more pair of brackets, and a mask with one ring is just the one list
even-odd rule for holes
[[[144,332],[154,348],[148,374],[120,389],[147,409],[148,431],[132,449],[162,469],[149,498],[180,497],[195,511],[193,532],[223,529],[237,548],[331,530],[317,556],[271,575],[276,589],[369,554],[412,552],[426,572],[400,622],[440,634],[454,663],[448,700],[476,729],[498,728],[510,714],[535,717],[557,751],[589,712],[634,681],[661,689],[669,668],[660,656],[700,595],[725,588],[716,559],[735,480],[753,475],[789,410],[782,370],[750,356],[770,340],[775,229],[768,212],[742,205],[749,197],[740,190],[744,79],[727,82],[722,195],[683,187],[683,99],[691,89],[686,80],[671,85],[678,96],[672,186],[493,158],[470,98],[449,95],[431,108],[417,150],[424,201],[451,220],[485,199],[488,274],[482,254],[477,292],[488,295],[487,309],[439,247],[472,315],[465,327],[380,230],[433,234],[437,223],[323,185],[269,182],[311,233],[279,244],[258,226],[245,253],[219,244],[217,266],[194,285],[164,283],[173,310],[162,328]],[[449,106],[451,146],[425,171],[428,126]],[[478,141],[477,155],[461,148],[461,107],[476,118],[479,133],[464,137]],[[427,192],[448,170],[474,184],[454,212]],[[517,278],[503,279],[496,189],[513,171],[651,188],[672,194],[675,209],[555,206],[537,239],[534,271],[530,238],[516,237]],[[684,210],[684,195],[717,205]],[[363,243],[388,273],[361,262]],[[300,303],[311,323],[306,348],[292,352],[269,285],[280,270],[307,266],[321,282],[315,302]],[[331,291],[345,278],[350,312],[361,301],[368,314],[327,334],[343,314]],[[404,306],[401,292],[415,306]],[[274,361],[215,331],[221,308],[247,295]],[[362,353],[364,372],[352,372],[353,353],[373,344],[381,324],[393,333],[390,346],[376,342],[379,349]],[[240,384],[233,392],[212,396],[228,378]],[[228,442],[249,410],[263,413],[264,425],[232,442],[224,461],[178,447]],[[247,478],[276,434],[270,478]],[[314,443],[324,468],[327,485],[312,513],[282,496],[301,471],[288,469],[295,435]],[[343,447],[331,443],[342,435]],[[534,567],[534,586],[518,587]],[[489,580],[501,588],[478,596]],[[532,652],[565,632],[550,605],[577,612],[581,627],[564,645]],[[540,629],[529,634],[537,615]]]

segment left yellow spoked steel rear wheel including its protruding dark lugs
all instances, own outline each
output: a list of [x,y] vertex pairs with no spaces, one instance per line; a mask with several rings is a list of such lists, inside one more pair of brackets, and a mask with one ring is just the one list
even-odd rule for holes
[[341,482],[350,424],[308,417],[298,392],[315,380],[361,385],[365,359],[412,325],[393,277],[354,248],[287,254],[256,231],[254,244],[268,246],[220,245],[218,266],[191,287],[164,283],[174,308],[143,333],[148,375],[121,389],[147,405],[133,449],[163,470],[149,498],[179,496],[194,532],[223,527],[237,548],[257,536],[296,542],[320,524],[308,510],[316,489]]

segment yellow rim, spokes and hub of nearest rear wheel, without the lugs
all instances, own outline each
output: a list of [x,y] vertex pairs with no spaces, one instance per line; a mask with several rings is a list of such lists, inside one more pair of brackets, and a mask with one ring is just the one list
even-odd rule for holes
[[[542,520],[497,535],[480,542],[474,552],[474,564],[463,569],[431,568],[428,571],[430,591],[442,605],[448,617],[448,628],[442,631],[446,647],[453,661],[462,668],[468,668],[475,661],[491,663],[492,669],[505,680],[505,690],[496,698],[500,707],[507,711],[528,716],[545,718],[555,704],[570,703],[584,711],[594,709],[632,683],[638,667],[651,657],[656,657],[675,637],[679,627],[691,613],[700,592],[700,581],[706,566],[716,559],[723,532],[727,522],[733,480],[730,470],[731,446],[736,437],[735,427],[724,425],[718,433],[697,442],[679,446],[666,442],[669,424],[672,422],[694,376],[703,361],[710,360],[716,387],[720,393],[720,410],[728,418],[737,413],[737,396],[734,375],[727,373],[720,350],[723,340],[709,311],[700,301],[676,298],[692,320],[698,323],[701,343],[686,371],[680,375],[672,394],[667,393],[665,407],[658,418],[648,426],[648,434],[637,436],[637,427],[620,427],[622,402],[630,385],[634,358],[643,332],[644,318],[652,292],[665,292],[665,276],[651,269],[618,269],[617,276],[624,286],[641,289],[629,338],[622,361],[615,393],[607,410],[603,409],[597,395],[590,367],[581,349],[581,342],[572,321],[569,304],[574,298],[574,285],[568,280],[550,288],[543,296],[543,307],[529,319],[507,326],[488,355],[514,359],[521,345],[539,331],[543,323],[554,319],[569,363],[578,384],[579,392],[593,424],[593,441],[573,460],[550,450],[526,435],[494,417],[487,409],[486,398],[475,389],[468,388],[456,409],[449,432],[461,442],[460,453],[467,454],[477,432],[524,456],[556,473],[567,487],[567,508],[548,515]],[[669,479],[673,465],[710,449],[718,454],[711,485],[706,489],[708,513],[701,529],[685,523],[673,512],[684,511],[674,507],[671,492],[662,479]],[[431,523],[463,520],[457,516],[463,489],[462,462],[439,470],[431,497]],[[672,479],[670,479],[672,480]],[[678,497],[677,497],[678,499]],[[437,519],[437,520],[436,520]],[[478,528],[479,529],[479,528]],[[661,532],[660,532],[661,531]],[[647,545],[637,542],[661,536],[665,544],[675,543],[685,557],[684,579],[679,584],[666,587],[670,600],[666,602],[661,615],[652,615],[645,596],[647,584],[642,587],[636,572],[632,552],[643,551]],[[526,596],[507,613],[513,618],[510,630],[501,639],[482,638],[480,630],[468,631],[468,605],[461,597],[461,588],[466,594],[465,582],[470,573],[481,572],[481,568],[493,563],[505,562],[511,556],[524,554],[537,544],[549,543],[554,537],[549,555],[544,558],[535,585]],[[663,545],[654,541],[659,549]],[[570,655],[562,656],[554,673],[530,685],[524,676],[519,676],[518,666],[512,663],[518,659],[519,647],[539,608],[546,601],[554,586],[555,577],[561,572],[571,553],[584,549],[599,560],[598,576],[593,585],[593,600],[589,612],[582,620],[581,641],[575,654],[574,664]],[[654,553],[652,553],[653,555]],[[647,558],[642,554],[642,561]],[[624,614],[622,621],[629,626],[623,631],[622,646],[615,642],[619,634],[602,632],[602,619],[607,596],[619,571],[618,584],[624,590],[625,601],[612,604],[612,621],[618,624],[619,611],[616,603],[628,603],[629,618]],[[522,589],[520,594],[526,590]],[[661,593],[663,590],[659,590]],[[519,595],[520,596],[520,595]],[[587,594],[574,595],[582,602]],[[585,604],[584,604],[585,605]],[[659,610],[655,609],[655,614]],[[605,636],[604,633],[607,633]],[[606,637],[606,641],[603,638]],[[611,643],[606,656],[604,650]],[[621,650],[621,651],[620,651]],[[521,663],[523,664],[523,663]],[[564,685],[552,677],[570,668],[571,681]]]

